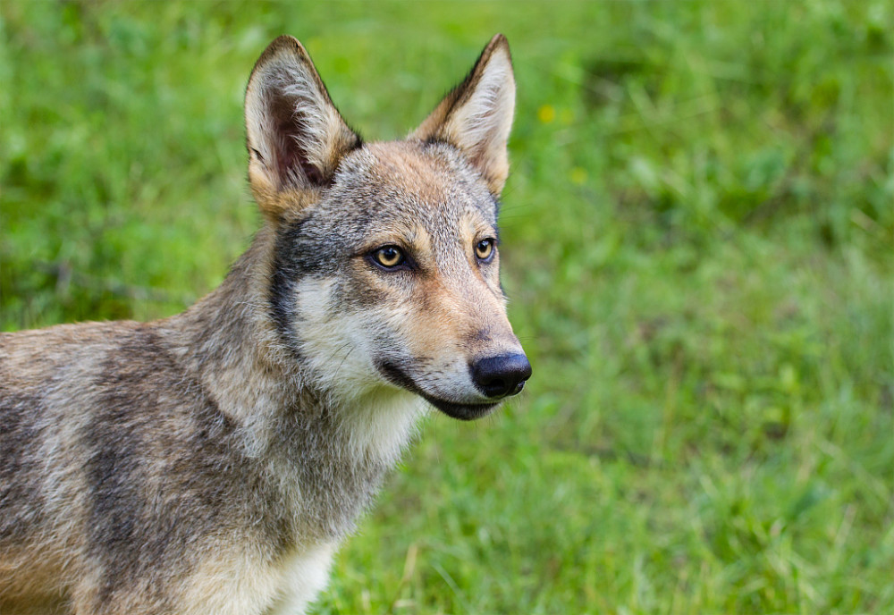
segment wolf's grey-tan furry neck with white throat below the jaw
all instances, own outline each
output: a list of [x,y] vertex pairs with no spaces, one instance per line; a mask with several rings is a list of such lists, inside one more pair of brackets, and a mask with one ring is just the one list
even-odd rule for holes
[[424,403],[390,387],[349,402],[302,373],[268,313],[274,242],[263,229],[218,289],[162,326],[181,340],[185,368],[240,425],[249,457],[293,476],[304,500],[318,492],[362,507],[399,459]]

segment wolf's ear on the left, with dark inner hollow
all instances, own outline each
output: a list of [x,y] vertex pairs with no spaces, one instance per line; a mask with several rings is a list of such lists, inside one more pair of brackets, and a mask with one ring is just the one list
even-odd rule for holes
[[258,206],[278,218],[288,191],[325,188],[342,157],[361,144],[333,105],[308,52],[281,36],[257,60],[245,92],[249,182]]

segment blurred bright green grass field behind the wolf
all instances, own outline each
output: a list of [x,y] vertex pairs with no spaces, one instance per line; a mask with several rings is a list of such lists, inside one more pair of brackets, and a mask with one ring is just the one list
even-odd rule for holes
[[367,139],[494,32],[535,375],[432,417],[319,613],[894,613],[894,5],[0,4],[0,328],[173,314],[258,225],[281,33]]

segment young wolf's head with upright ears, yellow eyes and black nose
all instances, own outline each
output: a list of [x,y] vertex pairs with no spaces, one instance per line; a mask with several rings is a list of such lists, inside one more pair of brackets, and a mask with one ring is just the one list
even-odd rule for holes
[[276,238],[268,315],[309,380],[348,399],[398,387],[463,419],[521,391],[497,231],[514,105],[497,35],[407,139],[364,143],[298,40],[261,55],[245,117]]

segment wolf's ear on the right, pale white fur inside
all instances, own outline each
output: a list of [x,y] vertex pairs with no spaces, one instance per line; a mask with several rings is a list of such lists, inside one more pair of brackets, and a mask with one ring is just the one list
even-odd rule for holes
[[506,141],[515,111],[515,78],[506,37],[498,34],[472,72],[434,108],[410,138],[444,140],[468,156],[493,194],[509,175]]

